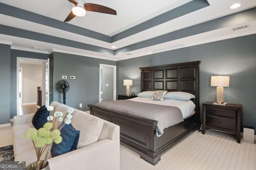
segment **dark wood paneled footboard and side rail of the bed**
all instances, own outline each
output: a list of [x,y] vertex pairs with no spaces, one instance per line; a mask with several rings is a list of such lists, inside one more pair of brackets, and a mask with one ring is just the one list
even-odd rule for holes
[[150,164],[157,164],[162,154],[176,145],[182,138],[199,127],[198,115],[164,129],[161,137],[155,134],[157,121],[127,113],[88,105],[90,114],[120,126],[120,142],[140,154]]

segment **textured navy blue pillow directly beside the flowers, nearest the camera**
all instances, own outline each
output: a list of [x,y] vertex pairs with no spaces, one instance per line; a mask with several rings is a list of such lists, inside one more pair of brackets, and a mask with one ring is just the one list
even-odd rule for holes
[[53,143],[51,148],[52,157],[76,150],[80,131],[74,129],[71,124],[65,125],[60,130],[62,141],[59,144]]

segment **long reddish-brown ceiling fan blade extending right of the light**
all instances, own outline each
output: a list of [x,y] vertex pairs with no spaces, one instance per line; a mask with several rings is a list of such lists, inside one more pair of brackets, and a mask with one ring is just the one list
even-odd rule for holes
[[98,4],[86,3],[86,4],[84,4],[84,9],[86,11],[116,15],[116,10],[113,10],[111,8],[108,8],[108,7],[102,6],[102,5],[98,5]]

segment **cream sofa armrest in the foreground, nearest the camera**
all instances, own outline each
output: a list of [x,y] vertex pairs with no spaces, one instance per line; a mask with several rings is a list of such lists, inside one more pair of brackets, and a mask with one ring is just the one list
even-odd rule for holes
[[51,170],[119,170],[120,140],[103,139],[48,159]]

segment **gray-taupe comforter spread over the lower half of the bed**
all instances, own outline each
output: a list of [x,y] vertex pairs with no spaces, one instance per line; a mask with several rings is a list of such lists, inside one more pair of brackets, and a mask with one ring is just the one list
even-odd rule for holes
[[158,137],[164,133],[165,128],[184,121],[182,113],[178,107],[161,106],[130,100],[100,102],[96,105],[131,115],[157,120],[156,135]]

